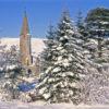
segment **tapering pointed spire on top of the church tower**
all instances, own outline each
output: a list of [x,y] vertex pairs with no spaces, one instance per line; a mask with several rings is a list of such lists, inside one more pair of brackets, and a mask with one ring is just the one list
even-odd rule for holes
[[21,35],[27,35],[27,34],[29,34],[29,28],[28,28],[28,21],[27,21],[27,15],[26,15],[26,11],[25,11]]

